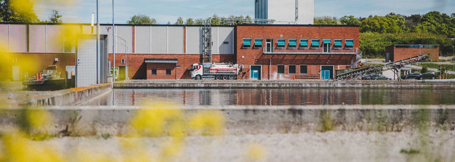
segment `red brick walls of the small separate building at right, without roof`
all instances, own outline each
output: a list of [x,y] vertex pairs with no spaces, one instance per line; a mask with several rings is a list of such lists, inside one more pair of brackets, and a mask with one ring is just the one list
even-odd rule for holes
[[436,61],[439,60],[439,46],[437,48],[397,48],[389,46],[385,48],[385,53],[390,52],[390,60],[392,62],[408,59],[411,57],[428,54],[429,59]]

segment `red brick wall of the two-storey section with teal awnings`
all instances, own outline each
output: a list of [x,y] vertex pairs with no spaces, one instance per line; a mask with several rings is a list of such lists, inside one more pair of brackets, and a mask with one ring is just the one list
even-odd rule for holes
[[[236,26],[236,55],[237,62],[243,64],[246,72],[244,79],[249,79],[249,65],[262,65],[262,79],[293,79],[294,74],[288,74],[288,65],[296,65],[296,74],[300,73],[299,65],[308,65],[308,75],[319,75],[321,65],[349,65],[353,54],[263,54],[263,49],[253,47],[254,39],[273,40],[273,52],[323,52],[323,39],[331,39],[331,51],[355,52],[359,47],[359,27],[348,26]],[[283,37],[281,37],[283,34]],[[251,39],[251,48],[242,48],[243,39]],[[278,49],[277,39],[286,39],[285,48]],[[288,39],[297,39],[297,48],[288,48]],[[308,49],[299,49],[299,39],[308,39]],[[319,49],[312,49],[311,39],[319,39]],[[343,39],[342,49],[334,49],[334,39]],[[345,39],[354,39],[354,49],[346,49]],[[257,61],[254,61],[257,59]],[[271,66],[270,66],[271,64]],[[276,74],[277,65],[285,65],[285,74]],[[345,68],[346,66],[341,66]],[[341,68],[340,67],[340,68]],[[270,72],[269,72],[270,71]]]

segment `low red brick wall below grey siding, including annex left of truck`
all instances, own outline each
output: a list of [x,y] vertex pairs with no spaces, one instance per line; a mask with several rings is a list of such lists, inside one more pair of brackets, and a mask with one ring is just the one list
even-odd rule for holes
[[[121,65],[121,59],[125,59],[125,54],[116,54],[116,67]],[[148,68],[147,64],[144,63],[144,59],[177,59],[178,64],[162,64],[163,66],[172,66],[180,65],[181,68],[177,68],[177,79],[190,79],[189,70],[191,64],[202,63],[201,54],[128,54],[128,77],[130,79],[175,79],[175,70],[172,69],[172,77],[169,75],[157,74],[156,76],[150,76],[151,72],[149,71],[152,68]],[[111,61],[112,66],[112,54],[109,54],[109,61]],[[213,62],[229,62],[235,61],[234,54],[214,54],[212,58]],[[154,66],[154,65],[150,65]],[[156,69],[156,68],[153,68]],[[165,73],[164,73],[165,74]],[[164,78],[160,78],[164,77]]]

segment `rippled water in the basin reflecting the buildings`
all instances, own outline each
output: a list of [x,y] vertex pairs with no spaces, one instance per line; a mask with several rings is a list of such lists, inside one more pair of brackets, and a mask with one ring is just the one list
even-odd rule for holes
[[113,89],[83,105],[454,104],[454,89]]

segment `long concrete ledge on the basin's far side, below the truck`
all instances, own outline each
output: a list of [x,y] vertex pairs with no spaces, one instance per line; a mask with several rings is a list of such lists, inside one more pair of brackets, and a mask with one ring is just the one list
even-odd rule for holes
[[114,88],[455,88],[455,82],[303,80],[129,80]]

